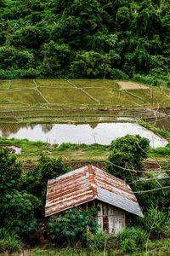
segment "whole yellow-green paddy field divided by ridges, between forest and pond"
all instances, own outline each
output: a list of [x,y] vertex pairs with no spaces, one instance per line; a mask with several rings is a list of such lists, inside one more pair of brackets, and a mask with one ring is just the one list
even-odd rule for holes
[[0,122],[6,122],[7,118],[11,118],[8,119],[11,122],[30,122],[38,117],[48,122],[63,117],[64,121],[68,115],[110,119],[116,109],[122,114],[123,109],[158,106],[170,107],[170,91],[132,82],[108,79],[0,81]]

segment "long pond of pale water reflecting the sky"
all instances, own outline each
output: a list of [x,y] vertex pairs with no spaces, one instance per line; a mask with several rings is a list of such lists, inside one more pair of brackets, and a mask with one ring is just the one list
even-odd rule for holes
[[100,143],[109,145],[117,137],[127,134],[139,134],[150,140],[152,148],[164,147],[165,139],[156,136],[152,131],[132,123],[102,123],[87,125],[64,124],[1,124],[1,137],[27,138],[31,141],[41,140],[47,143]]

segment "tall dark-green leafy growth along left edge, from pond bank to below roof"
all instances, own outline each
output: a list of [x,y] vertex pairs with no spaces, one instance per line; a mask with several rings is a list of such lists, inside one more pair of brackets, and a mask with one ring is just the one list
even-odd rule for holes
[[0,150],[0,170],[0,227],[28,238],[37,228],[34,210],[39,201],[17,190],[21,165],[7,148]]

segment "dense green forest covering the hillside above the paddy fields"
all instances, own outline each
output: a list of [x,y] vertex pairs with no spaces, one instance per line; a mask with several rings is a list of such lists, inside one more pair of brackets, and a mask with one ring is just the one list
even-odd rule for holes
[[0,0],[0,79],[168,80],[169,0]]

